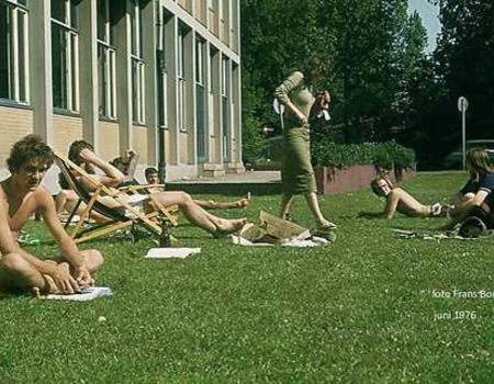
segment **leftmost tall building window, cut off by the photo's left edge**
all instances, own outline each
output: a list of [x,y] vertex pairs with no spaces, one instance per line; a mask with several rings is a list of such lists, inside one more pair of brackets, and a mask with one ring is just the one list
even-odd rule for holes
[[29,103],[26,1],[0,2],[0,98]]

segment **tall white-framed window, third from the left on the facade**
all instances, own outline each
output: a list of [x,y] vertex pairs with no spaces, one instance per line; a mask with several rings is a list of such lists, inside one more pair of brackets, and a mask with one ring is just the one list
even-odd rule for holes
[[110,20],[111,0],[98,0],[98,98],[100,116],[116,118],[116,50]]

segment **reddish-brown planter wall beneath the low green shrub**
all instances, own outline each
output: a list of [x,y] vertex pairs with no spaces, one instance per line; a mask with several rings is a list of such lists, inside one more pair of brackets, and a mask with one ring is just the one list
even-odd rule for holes
[[[393,169],[389,173],[389,178],[393,182],[398,182],[401,180],[412,179],[416,173],[415,168],[413,170]],[[319,194],[364,191],[377,176],[378,171],[375,167],[369,165],[357,165],[345,169],[330,167],[315,169],[317,191]]]

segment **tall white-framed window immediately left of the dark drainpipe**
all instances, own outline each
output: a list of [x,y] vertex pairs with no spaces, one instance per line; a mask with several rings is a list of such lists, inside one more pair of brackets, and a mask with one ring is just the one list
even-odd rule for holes
[[132,0],[131,59],[132,59],[132,120],[145,123],[143,18],[141,0]]

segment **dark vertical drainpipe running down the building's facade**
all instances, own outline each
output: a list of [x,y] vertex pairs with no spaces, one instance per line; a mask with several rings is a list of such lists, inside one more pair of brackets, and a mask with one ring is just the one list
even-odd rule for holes
[[164,20],[162,20],[162,9],[161,9],[161,1],[157,2],[158,4],[158,11],[157,11],[157,22],[156,22],[156,33],[157,33],[157,47],[156,47],[156,70],[157,70],[157,80],[158,80],[158,178],[160,183],[165,183],[166,180],[166,172],[167,172],[167,163],[165,158],[165,129],[162,128],[162,125],[165,124],[164,115],[165,111],[164,108],[166,108],[165,104],[165,94],[164,94],[164,76],[162,72],[165,70],[165,52],[164,52]]

